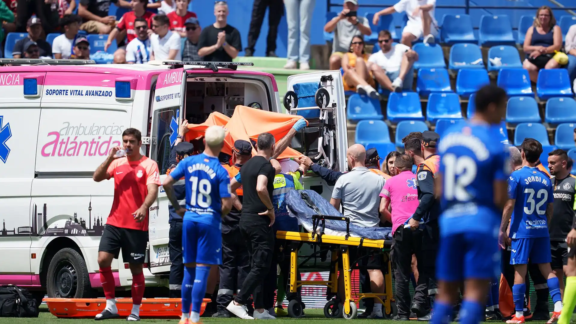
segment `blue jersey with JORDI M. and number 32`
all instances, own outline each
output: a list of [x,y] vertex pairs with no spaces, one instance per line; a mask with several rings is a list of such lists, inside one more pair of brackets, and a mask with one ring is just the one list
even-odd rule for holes
[[545,238],[548,234],[546,208],[554,202],[554,186],[538,168],[524,166],[508,178],[508,196],[516,199],[510,238]]

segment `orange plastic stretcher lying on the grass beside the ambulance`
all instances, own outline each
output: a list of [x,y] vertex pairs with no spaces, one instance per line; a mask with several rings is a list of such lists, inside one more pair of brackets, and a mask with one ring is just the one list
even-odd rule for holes
[[[48,310],[58,318],[94,318],[106,307],[102,298],[44,298]],[[182,299],[180,298],[144,298],[140,305],[141,318],[180,318],[182,315]],[[204,298],[200,307],[200,315],[204,313],[206,304],[211,300]],[[131,298],[117,298],[116,307],[120,317],[128,317],[132,311]]]

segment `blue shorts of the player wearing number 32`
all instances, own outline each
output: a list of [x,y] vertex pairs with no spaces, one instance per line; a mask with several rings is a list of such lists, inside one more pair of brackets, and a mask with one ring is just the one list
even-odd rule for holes
[[528,264],[528,259],[530,263],[552,262],[549,237],[512,239],[511,249],[511,265]]

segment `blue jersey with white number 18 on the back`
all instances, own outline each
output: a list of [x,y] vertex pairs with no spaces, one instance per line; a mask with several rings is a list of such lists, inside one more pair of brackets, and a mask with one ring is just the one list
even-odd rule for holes
[[192,217],[207,224],[220,222],[221,199],[230,197],[230,178],[218,158],[204,153],[189,156],[180,161],[170,176],[174,179],[184,176],[188,209],[184,218]]

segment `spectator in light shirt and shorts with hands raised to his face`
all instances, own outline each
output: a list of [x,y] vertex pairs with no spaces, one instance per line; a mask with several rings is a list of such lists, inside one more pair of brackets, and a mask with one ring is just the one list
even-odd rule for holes
[[372,30],[365,17],[357,17],[358,0],[344,0],[344,9],[338,16],[332,18],[324,25],[324,31],[334,31],[332,55],[330,56],[330,69],[338,70],[342,66],[342,56],[349,51],[354,35],[370,35]]

